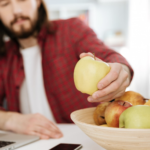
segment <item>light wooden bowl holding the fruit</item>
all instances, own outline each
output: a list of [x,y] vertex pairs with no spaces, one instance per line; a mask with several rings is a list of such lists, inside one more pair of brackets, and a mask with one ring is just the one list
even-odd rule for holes
[[71,113],[74,123],[93,141],[107,150],[150,150],[150,129],[122,129],[97,126],[93,120],[95,108]]

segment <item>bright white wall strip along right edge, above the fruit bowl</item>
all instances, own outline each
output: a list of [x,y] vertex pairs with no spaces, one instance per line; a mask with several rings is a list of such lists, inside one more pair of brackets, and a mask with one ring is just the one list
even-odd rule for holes
[[130,90],[150,98],[150,1],[129,1],[129,52],[134,69]]

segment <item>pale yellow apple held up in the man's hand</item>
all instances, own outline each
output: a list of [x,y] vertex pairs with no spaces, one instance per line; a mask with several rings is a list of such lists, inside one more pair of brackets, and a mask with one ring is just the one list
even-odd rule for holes
[[110,66],[97,61],[91,56],[81,58],[74,69],[74,83],[82,93],[92,95],[98,90],[97,85],[110,71]]

